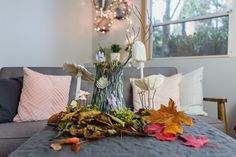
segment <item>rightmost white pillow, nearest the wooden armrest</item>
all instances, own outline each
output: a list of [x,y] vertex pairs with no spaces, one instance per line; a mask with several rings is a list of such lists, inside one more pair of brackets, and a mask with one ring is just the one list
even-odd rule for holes
[[180,83],[180,107],[190,115],[204,115],[203,110],[203,67],[183,75]]

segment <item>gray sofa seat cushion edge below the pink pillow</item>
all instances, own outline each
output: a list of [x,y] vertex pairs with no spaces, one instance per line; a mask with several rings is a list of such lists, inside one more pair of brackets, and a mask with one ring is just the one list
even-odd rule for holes
[[47,121],[34,122],[10,122],[0,124],[0,140],[1,139],[17,139],[29,138],[37,131],[44,128]]

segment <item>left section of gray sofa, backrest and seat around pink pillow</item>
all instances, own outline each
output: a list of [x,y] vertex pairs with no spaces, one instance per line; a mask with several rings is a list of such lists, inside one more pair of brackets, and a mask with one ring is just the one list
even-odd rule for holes
[[[34,67],[31,69],[43,74],[68,75],[62,70],[62,68]],[[21,76],[23,76],[22,67],[4,67],[0,70],[0,78],[15,78]],[[69,101],[75,97],[76,83],[77,79],[72,77]],[[0,157],[5,157],[10,152],[14,151],[33,134],[43,129],[46,126],[46,123],[46,120],[20,123],[0,123]]]

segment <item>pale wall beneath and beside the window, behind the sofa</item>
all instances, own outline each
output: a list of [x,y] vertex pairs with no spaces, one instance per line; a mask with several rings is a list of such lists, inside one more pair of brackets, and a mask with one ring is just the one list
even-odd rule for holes
[[[134,1],[140,8],[140,1]],[[133,18],[136,25],[139,23]],[[106,35],[93,33],[93,52],[98,48],[97,44],[108,46],[111,42],[125,43],[126,25],[115,24]],[[235,37],[234,37],[235,38]],[[226,105],[230,135],[236,137],[233,130],[236,125],[236,57],[224,58],[191,58],[191,59],[156,59],[149,62],[148,66],[178,68],[180,73],[187,73],[201,66],[204,67],[204,96],[216,98],[228,98]],[[205,105],[210,116],[217,116],[217,106],[214,103]]]

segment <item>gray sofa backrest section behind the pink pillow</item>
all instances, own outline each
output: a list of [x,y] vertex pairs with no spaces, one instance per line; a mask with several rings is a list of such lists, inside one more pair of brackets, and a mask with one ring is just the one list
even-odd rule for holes
[[[70,75],[63,71],[61,67],[29,67],[30,69],[48,75]],[[23,67],[3,67],[0,70],[0,78],[14,78],[23,76]],[[71,75],[72,76],[72,75]],[[70,85],[69,102],[75,98],[76,77],[72,76]]]

